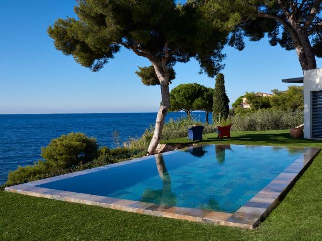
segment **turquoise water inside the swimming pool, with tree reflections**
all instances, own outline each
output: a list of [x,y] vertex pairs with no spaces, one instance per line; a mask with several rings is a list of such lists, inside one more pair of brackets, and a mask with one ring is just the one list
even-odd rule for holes
[[205,145],[38,187],[233,213],[305,150]]

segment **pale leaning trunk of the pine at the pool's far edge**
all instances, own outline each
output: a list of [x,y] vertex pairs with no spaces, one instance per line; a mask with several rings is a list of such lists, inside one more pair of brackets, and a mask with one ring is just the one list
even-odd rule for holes
[[170,107],[170,93],[169,93],[169,74],[166,66],[160,66],[153,63],[155,73],[160,81],[161,88],[161,103],[159,111],[157,112],[154,134],[150,145],[148,147],[149,155],[154,154],[157,145],[160,143],[161,134],[165,118]]

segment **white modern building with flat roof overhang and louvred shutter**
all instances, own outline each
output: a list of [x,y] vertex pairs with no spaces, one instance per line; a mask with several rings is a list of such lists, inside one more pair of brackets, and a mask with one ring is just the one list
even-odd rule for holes
[[322,138],[322,69],[304,70],[304,77],[282,82],[304,83],[304,138]]

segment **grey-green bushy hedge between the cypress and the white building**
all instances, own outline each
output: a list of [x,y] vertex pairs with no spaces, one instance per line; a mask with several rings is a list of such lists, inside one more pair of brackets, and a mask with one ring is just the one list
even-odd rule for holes
[[256,112],[236,113],[231,122],[235,131],[264,131],[291,129],[304,122],[303,110],[282,111],[273,109],[260,109]]

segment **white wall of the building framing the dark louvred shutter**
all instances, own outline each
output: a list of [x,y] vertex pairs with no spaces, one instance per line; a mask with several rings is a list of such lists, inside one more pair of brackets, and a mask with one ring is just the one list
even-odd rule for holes
[[312,138],[312,91],[322,90],[322,69],[304,70],[304,138]]

